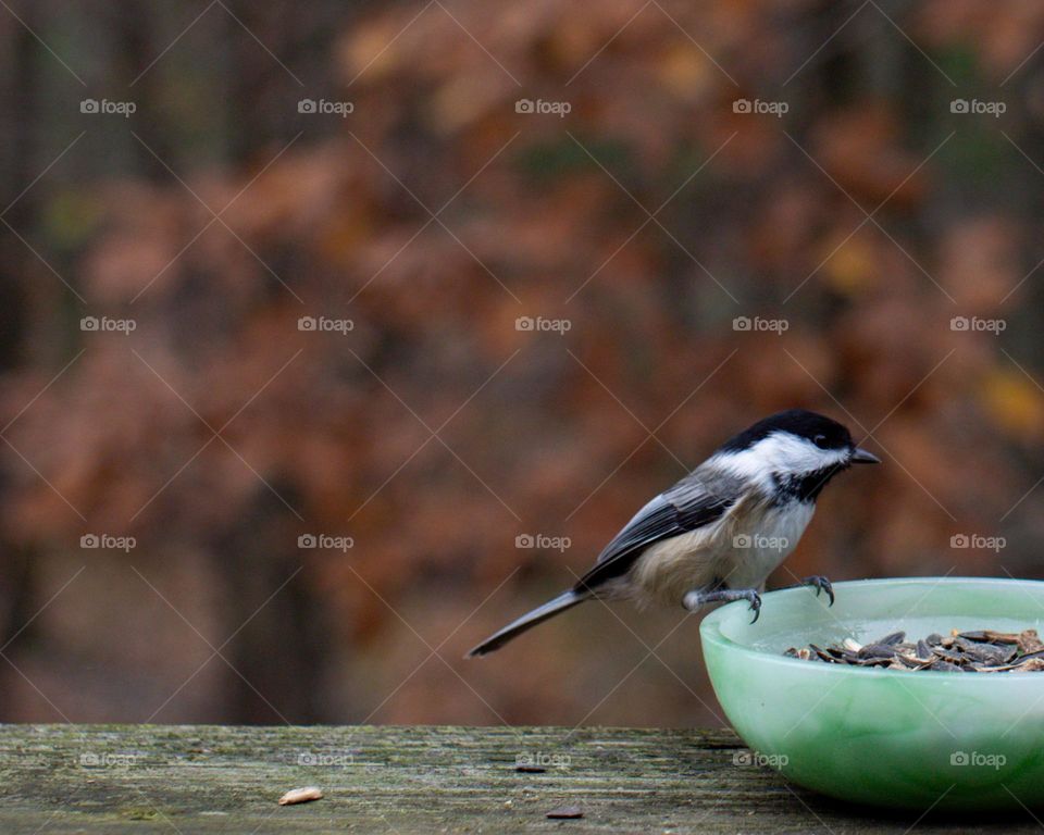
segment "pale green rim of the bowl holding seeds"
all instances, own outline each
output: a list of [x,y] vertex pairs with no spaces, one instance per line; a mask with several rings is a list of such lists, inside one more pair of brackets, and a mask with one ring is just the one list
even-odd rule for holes
[[[1006,586],[1009,588],[1015,587],[1026,587],[1026,586],[1037,586],[1044,588],[1044,581],[1041,579],[1020,579],[1018,577],[874,577],[869,579],[846,579],[840,581],[832,584],[835,590],[854,588],[854,587],[863,587],[863,586],[886,586],[886,585],[904,585],[904,586],[971,586],[971,585],[986,585],[986,586]],[[768,600],[771,597],[776,595],[786,595],[786,594],[807,594],[808,589],[799,587],[788,587],[788,588],[778,588],[772,591],[766,591],[761,595],[762,602]],[[915,680],[921,681],[924,678],[939,678],[942,676],[946,681],[960,681],[960,682],[991,682],[991,681],[1011,681],[1011,682],[1027,682],[1034,681],[1035,677],[1030,674],[1024,675],[968,675],[968,674],[956,674],[952,671],[945,670],[888,670],[887,668],[880,666],[853,666],[850,664],[818,664],[810,666],[808,661],[803,661],[799,658],[794,658],[792,656],[784,656],[782,652],[774,652],[765,649],[757,649],[750,647],[746,644],[739,644],[732,638],[724,635],[721,631],[722,621],[725,618],[733,614],[737,609],[748,610],[747,602],[745,600],[736,600],[731,603],[725,603],[724,606],[716,609],[714,611],[707,614],[699,624],[699,637],[701,645],[704,646],[704,658],[706,664],[706,645],[716,644],[720,648],[728,649],[732,653],[741,653],[742,656],[748,659],[758,659],[760,662],[771,661],[774,663],[784,664],[787,666],[801,666],[808,670],[815,670],[817,673],[825,675],[865,675],[865,676],[896,676],[896,675],[907,675],[909,673],[917,673]],[[731,610],[731,611],[730,611]],[[1044,619],[1044,605],[1041,609],[1042,619]],[[708,671],[709,672],[709,671]],[[1041,674],[1040,681],[1044,683],[1044,674]],[[971,685],[975,686],[975,685]],[[991,685],[997,686],[997,685]]]

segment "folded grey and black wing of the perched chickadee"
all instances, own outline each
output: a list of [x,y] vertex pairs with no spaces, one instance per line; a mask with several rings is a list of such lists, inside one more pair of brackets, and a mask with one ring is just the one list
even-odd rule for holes
[[589,591],[625,574],[648,546],[721,519],[739,498],[742,482],[697,470],[639,510],[573,587]]

